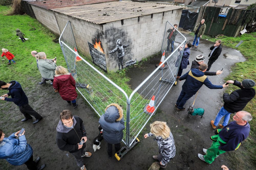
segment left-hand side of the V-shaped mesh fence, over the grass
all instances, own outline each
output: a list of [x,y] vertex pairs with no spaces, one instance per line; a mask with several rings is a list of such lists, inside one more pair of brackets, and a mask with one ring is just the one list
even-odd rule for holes
[[[128,99],[126,93],[73,50],[76,47],[76,43],[74,37],[70,36],[70,34],[72,35],[71,32],[71,24],[68,22],[60,36],[60,45],[69,72],[76,80],[77,90],[99,116],[104,114],[104,110],[109,104],[118,103],[123,108],[124,120],[126,122]],[[123,142],[125,143],[125,141],[126,135],[123,137]]]

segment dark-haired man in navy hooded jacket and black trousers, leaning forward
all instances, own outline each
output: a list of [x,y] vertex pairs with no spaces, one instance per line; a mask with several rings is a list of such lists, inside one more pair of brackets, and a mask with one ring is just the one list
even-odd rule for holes
[[[22,122],[32,119],[31,116],[34,116],[36,118],[33,124],[43,119],[42,116],[40,116],[40,114],[38,114],[29,106],[28,98],[22,90],[22,87],[19,84],[19,82],[11,81],[9,83],[5,83],[3,81],[0,81],[0,90],[9,90],[9,93],[2,95],[1,97],[3,98],[0,100],[14,102],[19,107],[20,112],[22,112],[25,116],[25,119],[21,120]],[[11,96],[12,98],[7,98],[8,96]]]

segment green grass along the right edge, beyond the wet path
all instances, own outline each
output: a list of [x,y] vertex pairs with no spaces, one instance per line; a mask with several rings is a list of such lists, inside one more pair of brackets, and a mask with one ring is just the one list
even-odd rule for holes
[[[194,33],[190,33],[190,35],[194,36]],[[231,68],[232,72],[225,78],[225,80],[238,80],[241,82],[244,79],[252,79],[256,81],[256,32],[246,33],[238,37],[223,36],[212,38],[210,36],[204,35],[202,38],[208,39],[212,42],[220,39],[223,45],[239,50],[246,58],[245,62],[236,63]],[[239,47],[235,47],[241,40],[244,42]],[[231,93],[230,90],[234,91],[236,89],[239,88],[237,86],[231,85],[226,88],[226,93]],[[255,86],[254,89],[256,90]],[[244,110],[250,112],[253,116],[253,119],[250,121],[250,136],[245,140],[245,142],[243,142],[243,144],[245,144],[244,146],[247,150],[246,153],[250,156],[250,162],[256,165],[256,97],[254,97],[247,104]],[[232,161],[236,163],[235,160]]]

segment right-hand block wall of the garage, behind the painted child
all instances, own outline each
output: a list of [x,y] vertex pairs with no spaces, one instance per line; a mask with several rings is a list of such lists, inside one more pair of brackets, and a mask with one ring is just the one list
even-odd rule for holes
[[[134,17],[103,24],[104,51],[108,52],[116,47],[116,40],[121,39],[122,44],[130,44],[124,49],[123,63],[129,60],[141,61],[161,50],[165,24],[179,23],[182,9],[159,12],[151,15]],[[108,70],[118,70],[117,53],[106,53]]]

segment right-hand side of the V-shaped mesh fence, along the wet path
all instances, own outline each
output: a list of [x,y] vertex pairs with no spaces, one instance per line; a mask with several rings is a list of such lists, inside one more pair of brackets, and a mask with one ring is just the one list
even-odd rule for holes
[[[176,81],[176,75],[179,69],[180,61],[184,51],[186,38],[177,31],[174,48],[171,48],[169,38],[170,30],[175,29],[172,24],[166,22],[165,33],[162,43],[162,53],[165,52],[165,60],[154,70],[131,94],[128,104],[130,104],[130,143],[140,134],[143,127],[155,112],[148,113],[145,106],[150,103],[155,96],[155,111],[167,95],[170,88]],[[168,31],[169,30],[169,31]],[[169,42],[168,42],[169,41]],[[168,47],[169,45],[169,47]],[[172,52],[173,50],[173,52]],[[139,104],[137,104],[139,103]],[[135,138],[134,138],[135,137]]]

